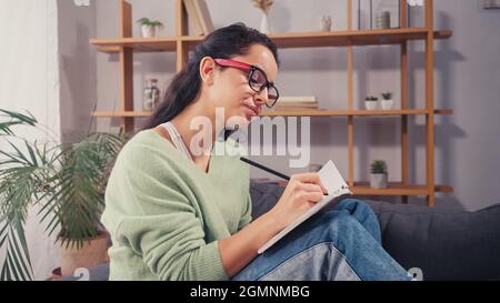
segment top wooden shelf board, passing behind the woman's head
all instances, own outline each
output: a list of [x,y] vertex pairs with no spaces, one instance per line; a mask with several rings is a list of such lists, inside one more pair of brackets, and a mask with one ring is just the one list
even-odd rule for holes
[[[448,39],[452,36],[449,30],[434,31],[434,39]],[[379,46],[398,44],[410,40],[424,40],[426,28],[388,29],[388,30],[356,30],[329,32],[287,32],[271,33],[269,37],[280,49],[290,48],[323,48],[346,46]],[[158,37],[158,38],[114,38],[90,39],[90,43],[100,52],[113,53],[120,48],[131,48],[134,52],[176,51],[177,41],[194,46],[204,36]]]

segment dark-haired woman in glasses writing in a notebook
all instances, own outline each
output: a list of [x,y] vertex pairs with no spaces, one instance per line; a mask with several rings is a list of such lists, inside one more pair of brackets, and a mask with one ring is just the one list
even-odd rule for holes
[[[278,100],[277,72],[274,43],[244,24],[219,29],[197,46],[109,178],[102,222],[113,242],[110,279],[408,279],[381,248],[377,218],[356,200],[257,254],[324,191],[318,174],[296,174],[276,206],[251,221],[248,166],[211,152],[233,143],[220,135],[216,110],[250,123]],[[201,137],[190,127],[200,118],[210,122]]]

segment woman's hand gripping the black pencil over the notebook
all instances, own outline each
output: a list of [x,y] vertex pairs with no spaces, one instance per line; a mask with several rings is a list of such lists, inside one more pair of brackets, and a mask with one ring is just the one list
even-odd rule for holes
[[284,229],[318,203],[324,193],[327,193],[327,189],[321,183],[318,173],[294,174],[290,178],[280,200],[269,213],[274,218],[279,229]]

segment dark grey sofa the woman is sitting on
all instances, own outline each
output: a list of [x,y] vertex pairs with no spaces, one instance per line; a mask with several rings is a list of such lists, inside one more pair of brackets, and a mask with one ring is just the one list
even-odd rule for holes
[[[282,191],[252,182],[253,218],[271,209]],[[363,201],[379,218],[383,248],[404,269],[421,269],[423,280],[500,280],[500,204],[463,212]],[[90,270],[90,280],[108,275],[108,264]]]

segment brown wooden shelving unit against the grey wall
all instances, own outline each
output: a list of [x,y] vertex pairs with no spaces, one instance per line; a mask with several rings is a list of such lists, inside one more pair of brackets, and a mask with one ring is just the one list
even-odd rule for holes
[[[348,100],[346,110],[274,110],[264,111],[266,117],[332,117],[346,118],[348,123],[349,172],[348,183],[354,194],[359,195],[398,195],[408,202],[410,195],[427,196],[429,206],[436,204],[436,192],[451,192],[452,188],[437,185],[434,182],[434,115],[452,114],[450,109],[434,108],[434,40],[448,39],[449,30],[434,30],[433,0],[426,0],[426,23],[422,28],[408,27],[406,0],[401,1],[400,28],[387,30],[352,30],[352,0],[347,2],[348,29],[332,32],[289,32],[272,33],[269,37],[280,49],[292,48],[347,48]],[[177,30],[173,37],[152,39],[132,37],[132,7],[124,0],[118,0],[120,10],[120,37],[114,39],[91,39],[90,43],[97,51],[118,53],[120,61],[120,109],[118,111],[96,111],[97,118],[120,118],[124,131],[133,131],[134,119],[146,118],[150,112],[133,109],[133,53],[139,52],[176,52],[177,71],[187,62],[189,50],[199,43],[203,37],[189,36],[188,18],[182,0],[176,0]],[[426,107],[424,109],[408,108],[408,43],[423,41],[426,44]],[[353,47],[396,44],[401,48],[401,109],[390,111],[357,110],[353,107]],[[408,118],[410,115],[426,117],[426,184],[414,185],[409,182],[408,171]],[[391,183],[389,189],[376,190],[368,184],[354,182],[354,118],[397,117],[401,119],[401,182]]]

